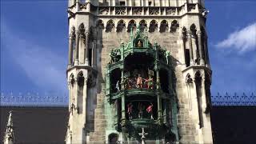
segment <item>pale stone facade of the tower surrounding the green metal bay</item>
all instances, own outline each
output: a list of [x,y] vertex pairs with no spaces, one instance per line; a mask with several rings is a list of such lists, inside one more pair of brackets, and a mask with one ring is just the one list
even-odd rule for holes
[[[106,100],[110,51],[143,27],[151,43],[170,51],[178,132],[175,142],[213,143],[211,70],[203,0],[69,0],[70,118],[66,143],[110,143],[114,129]],[[112,127],[112,128],[111,128]],[[158,138],[158,143],[166,142]]]

